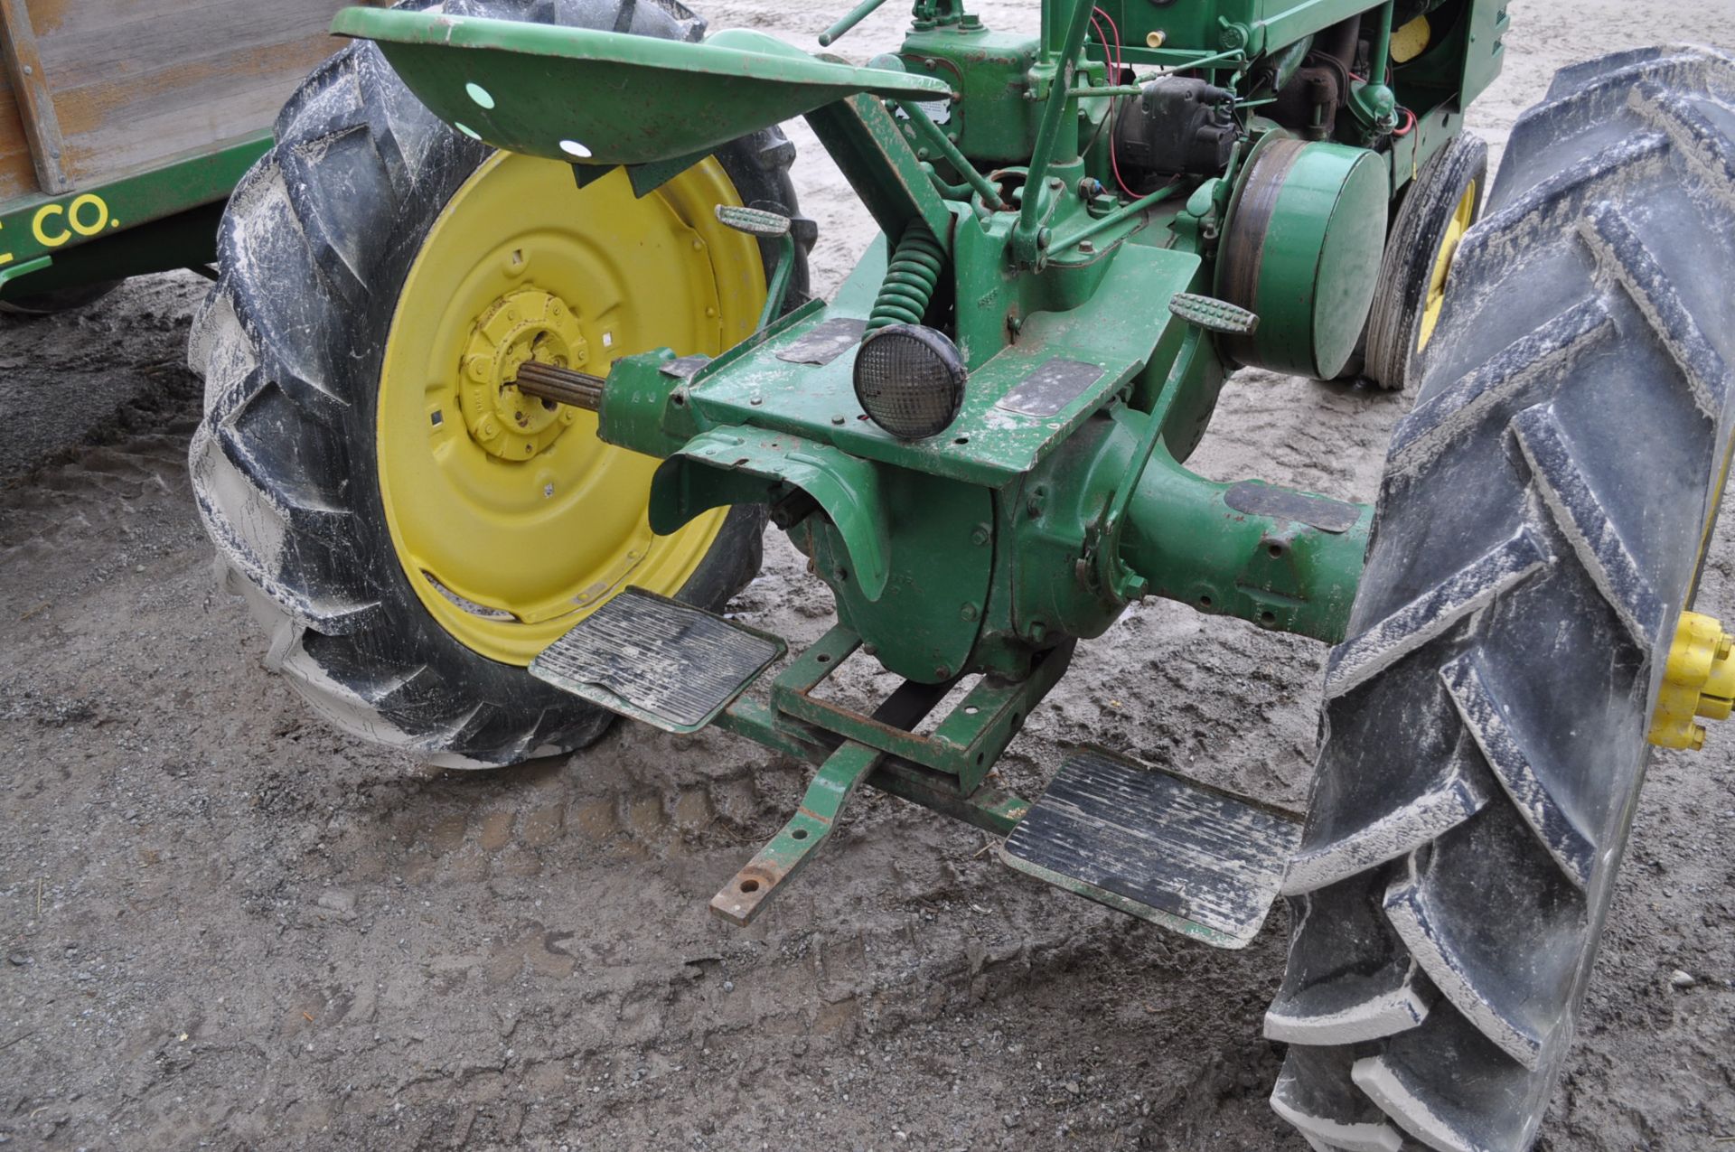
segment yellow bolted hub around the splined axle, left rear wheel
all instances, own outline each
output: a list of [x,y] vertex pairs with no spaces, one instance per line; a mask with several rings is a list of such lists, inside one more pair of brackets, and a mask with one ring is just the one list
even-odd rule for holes
[[458,404],[482,451],[533,460],[578,418],[578,409],[519,392],[512,380],[529,361],[581,368],[590,356],[578,317],[560,297],[524,286],[496,298],[470,330]]

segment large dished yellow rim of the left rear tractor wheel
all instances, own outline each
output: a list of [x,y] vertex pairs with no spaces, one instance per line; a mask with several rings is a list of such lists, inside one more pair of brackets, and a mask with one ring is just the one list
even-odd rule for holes
[[380,368],[380,498],[411,588],[482,656],[527,664],[626,585],[673,595],[717,540],[727,508],[654,536],[658,461],[505,382],[526,359],[606,375],[748,337],[765,269],[718,203],[741,200],[715,160],[638,200],[619,170],[578,189],[569,165],[496,153],[409,267]]

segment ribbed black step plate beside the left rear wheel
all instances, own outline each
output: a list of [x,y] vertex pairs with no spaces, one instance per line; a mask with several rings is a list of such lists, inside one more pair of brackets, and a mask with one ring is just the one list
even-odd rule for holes
[[777,637],[628,588],[543,649],[531,675],[665,732],[697,732],[782,652]]

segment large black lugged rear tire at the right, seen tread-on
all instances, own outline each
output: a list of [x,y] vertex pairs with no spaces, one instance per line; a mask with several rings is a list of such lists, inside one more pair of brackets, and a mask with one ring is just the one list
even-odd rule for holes
[[1730,458],[1732,128],[1723,54],[1563,69],[1457,252],[1284,881],[1313,1149],[1537,1136]]

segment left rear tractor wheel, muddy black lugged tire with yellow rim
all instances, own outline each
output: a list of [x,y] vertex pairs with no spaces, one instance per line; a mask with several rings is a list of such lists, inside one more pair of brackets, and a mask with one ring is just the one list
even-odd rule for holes
[[[444,7],[703,35],[677,0]],[[652,536],[656,461],[510,380],[529,359],[606,373],[748,337],[777,246],[715,206],[793,215],[795,149],[767,130],[644,198],[619,170],[579,189],[569,165],[448,128],[368,42],[302,85],[276,141],[229,203],[191,338],[200,515],[267,666],[340,729],[448,767],[588,744],[611,715],[526,664],[628,585],[722,607],[758,571],[765,517]]]

